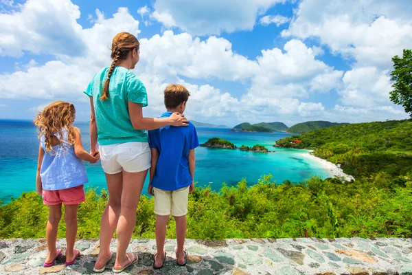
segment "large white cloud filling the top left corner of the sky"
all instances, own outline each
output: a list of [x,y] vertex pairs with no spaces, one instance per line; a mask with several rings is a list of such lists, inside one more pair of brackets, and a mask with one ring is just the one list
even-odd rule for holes
[[[28,0],[19,12],[0,14],[0,56],[34,54],[76,56],[84,53],[78,38],[79,7],[69,0]],[[47,19],[47,20],[45,20]]]

